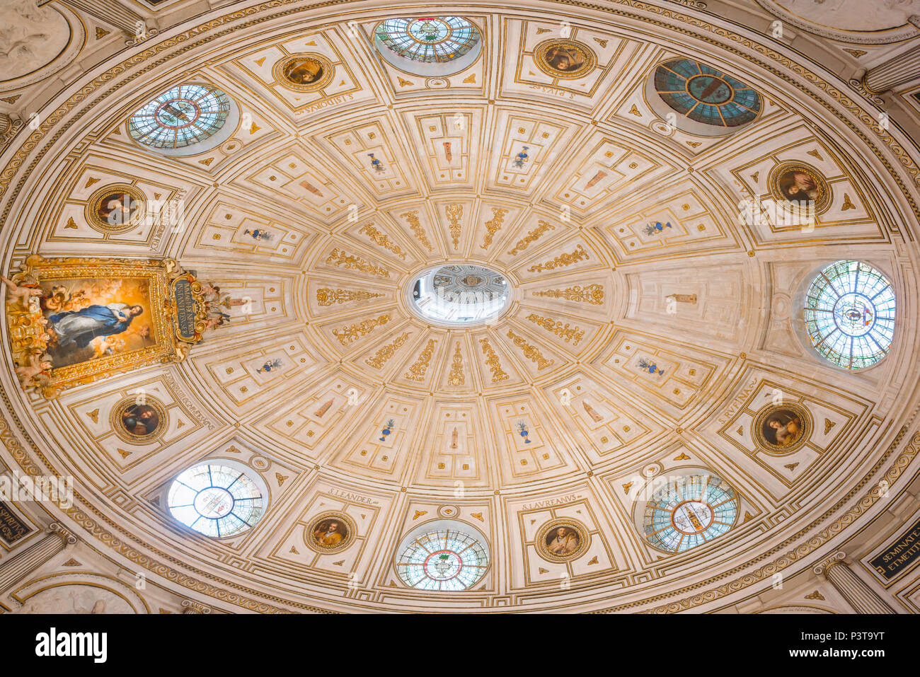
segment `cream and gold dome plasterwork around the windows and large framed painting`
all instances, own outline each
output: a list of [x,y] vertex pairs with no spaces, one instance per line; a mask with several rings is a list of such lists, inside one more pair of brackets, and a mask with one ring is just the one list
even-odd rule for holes
[[[474,3],[466,16],[482,56],[431,77],[370,52],[379,8],[253,7],[215,12],[193,35],[157,35],[126,68],[87,75],[6,152],[0,189],[17,232],[3,243],[6,270],[30,254],[171,258],[214,290],[201,298],[213,294],[215,326],[181,361],[51,400],[20,389],[12,368],[2,374],[17,419],[6,425],[31,450],[17,461],[34,456],[86,482],[69,519],[117,531],[133,554],[116,557],[141,553],[146,564],[133,566],[208,579],[249,609],[414,610],[420,592],[400,582],[394,557],[439,517],[484,537],[491,560],[469,590],[436,595],[444,608],[526,596],[542,609],[668,611],[677,596],[706,608],[763,585],[752,572],[765,566],[808,564],[822,522],[809,507],[852,512],[858,494],[857,511],[877,510],[870,489],[859,493],[864,478],[871,486],[884,468],[896,481],[916,452],[889,468],[915,406],[892,377],[916,370],[904,337],[916,323],[917,170],[897,132],[834,99],[827,75],[699,17],[665,27],[683,7],[621,3],[576,17],[555,3],[504,14]],[[540,47],[549,38],[591,51],[565,57],[579,77],[552,73],[563,57]],[[761,94],[760,115],[718,139],[669,126],[645,92],[656,65],[679,55],[737,74]],[[294,56],[301,88],[278,80]],[[810,92],[796,84],[807,68]],[[179,71],[219,84],[239,120],[216,147],[151,157],[124,123]],[[46,171],[54,163],[66,172]],[[826,186],[811,228],[777,209],[771,172],[788,163]],[[109,184],[150,218],[94,228],[87,210]],[[759,211],[740,218],[742,201]],[[841,374],[803,350],[790,290],[857,250],[904,304],[891,354]],[[483,327],[426,324],[404,290],[442,264],[496,271],[512,306]],[[149,443],[93,415],[137,388],[166,426]],[[799,412],[799,430],[782,422],[800,437],[791,452],[758,437],[782,413],[765,408],[776,391],[789,417]],[[65,428],[70,453],[42,446]],[[178,537],[155,496],[193,463],[226,458],[259,473],[265,514],[225,542]],[[636,491],[688,466],[727,482],[740,508],[726,533],[668,555],[662,572],[634,523]],[[348,531],[329,555],[304,541],[327,513]],[[553,542],[550,523],[570,531]],[[569,546],[577,557],[560,557]],[[558,595],[560,573],[581,597]],[[341,597],[351,574],[366,595]],[[726,576],[730,589],[717,590]]]

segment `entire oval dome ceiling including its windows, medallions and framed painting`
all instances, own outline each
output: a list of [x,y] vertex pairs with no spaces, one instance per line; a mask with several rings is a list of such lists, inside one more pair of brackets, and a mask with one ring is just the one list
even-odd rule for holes
[[665,613],[883,509],[916,149],[691,7],[527,5],[236,3],[20,125],[2,459],[54,519],[226,611]]

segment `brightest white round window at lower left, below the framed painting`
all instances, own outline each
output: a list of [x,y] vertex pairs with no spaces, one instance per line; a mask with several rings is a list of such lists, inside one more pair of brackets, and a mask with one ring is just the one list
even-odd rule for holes
[[200,534],[224,538],[259,522],[262,491],[246,471],[230,465],[193,465],[169,488],[169,511]]

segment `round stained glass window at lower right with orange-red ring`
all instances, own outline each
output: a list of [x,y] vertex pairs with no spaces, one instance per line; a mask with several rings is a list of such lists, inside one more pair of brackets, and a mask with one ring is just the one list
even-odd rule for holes
[[738,497],[715,475],[688,475],[657,488],[646,505],[651,545],[682,553],[725,534],[738,515]]

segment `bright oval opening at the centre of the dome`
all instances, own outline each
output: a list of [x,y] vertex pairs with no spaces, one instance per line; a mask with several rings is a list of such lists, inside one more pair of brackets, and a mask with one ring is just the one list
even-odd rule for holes
[[429,270],[410,285],[409,307],[429,322],[449,327],[486,324],[511,304],[504,276],[485,266],[454,264]]

